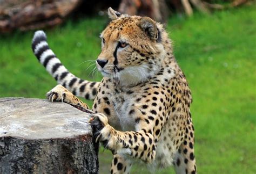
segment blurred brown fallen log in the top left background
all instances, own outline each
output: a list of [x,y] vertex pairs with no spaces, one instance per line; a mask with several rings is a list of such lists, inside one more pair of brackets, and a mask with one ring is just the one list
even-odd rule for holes
[[61,24],[81,3],[82,0],[0,0],[0,32]]

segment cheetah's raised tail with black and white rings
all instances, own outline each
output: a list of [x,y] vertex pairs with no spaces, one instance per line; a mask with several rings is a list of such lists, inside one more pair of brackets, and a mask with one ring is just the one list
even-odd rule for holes
[[63,85],[76,96],[86,99],[96,97],[99,82],[89,82],[71,74],[49,48],[46,34],[43,31],[35,32],[32,39],[32,50],[38,61],[56,79],[58,84]]

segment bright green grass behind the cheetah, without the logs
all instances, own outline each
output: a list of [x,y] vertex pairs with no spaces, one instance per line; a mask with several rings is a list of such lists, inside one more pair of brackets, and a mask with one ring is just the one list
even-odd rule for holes
[[[199,173],[256,173],[255,7],[173,17],[167,25],[192,90]],[[73,74],[93,80],[94,67],[86,70],[90,63],[80,63],[97,58],[106,21],[79,19],[46,31],[51,48]],[[0,36],[0,97],[44,98],[56,85],[32,55],[31,38],[32,32]],[[110,154],[100,153],[102,173],[109,170]],[[137,170],[148,173],[138,165],[132,173]]]

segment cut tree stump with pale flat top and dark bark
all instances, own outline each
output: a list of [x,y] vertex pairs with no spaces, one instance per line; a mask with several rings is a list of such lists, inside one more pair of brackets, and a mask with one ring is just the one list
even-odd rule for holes
[[89,116],[66,103],[0,98],[0,173],[98,173]]

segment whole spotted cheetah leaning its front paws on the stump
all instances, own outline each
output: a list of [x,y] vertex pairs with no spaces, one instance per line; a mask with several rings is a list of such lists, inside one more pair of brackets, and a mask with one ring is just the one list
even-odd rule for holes
[[134,159],[176,173],[197,173],[191,91],[173,55],[163,25],[149,17],[108,9],[111,19],[100,34],[96,66],[104,76],[89,82],[71,74],[37,31],[32,50],[58,85],[49,100],[89,108],[96,141],[112,151],[110,173],[129,173]]

